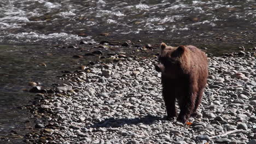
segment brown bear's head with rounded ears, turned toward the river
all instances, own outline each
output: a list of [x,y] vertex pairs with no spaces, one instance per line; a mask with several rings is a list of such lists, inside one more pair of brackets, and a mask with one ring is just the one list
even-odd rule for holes
[[185,46],[172,47],[161,43],[160,47],[159,63],[155,65],[155,70],[167,77],[176,78],[182,72],[181,64]]

